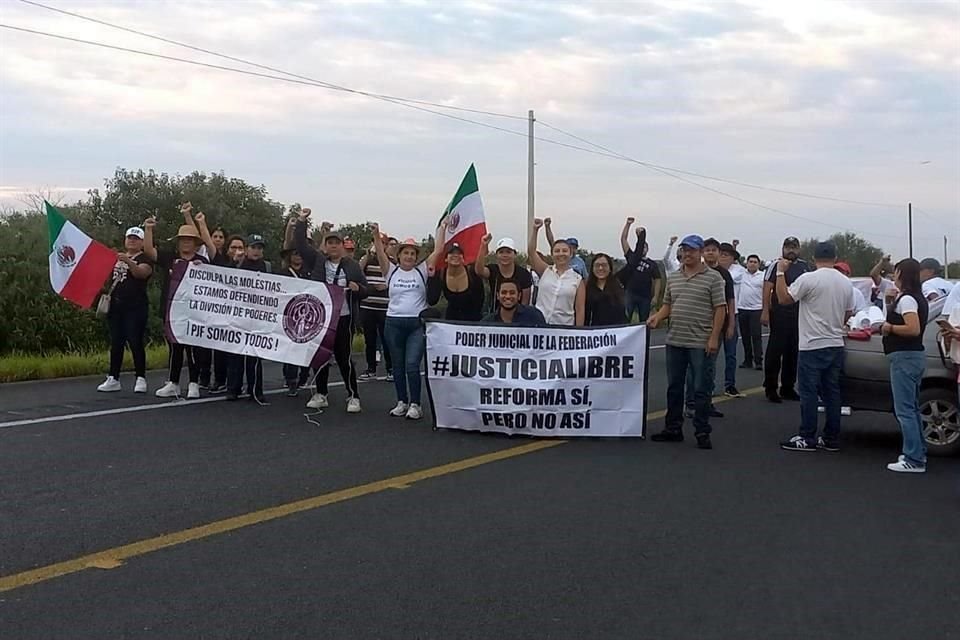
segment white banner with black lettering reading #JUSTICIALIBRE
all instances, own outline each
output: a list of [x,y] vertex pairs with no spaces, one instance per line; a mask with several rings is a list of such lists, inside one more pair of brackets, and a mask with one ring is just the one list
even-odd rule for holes
[[533,436],[639,436],[648,334],[640,326],[427,322],[435,427]]

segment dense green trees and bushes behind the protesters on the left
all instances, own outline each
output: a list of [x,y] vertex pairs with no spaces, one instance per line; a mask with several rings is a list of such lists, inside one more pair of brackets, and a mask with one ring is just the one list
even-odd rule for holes
[[[42,203],[42,198],[38,199]],[[179,204],[189,200],[207,214],[211,228],[223,225],[229,233],[260,233],[268,242],[267,257],[279,265],[284,207],[271,200],[266,188],[223,174],[194,172],[171,176],[155,171],[117,169],[101,192],[72,206],[60,207],[86,234],[109,247],[123,246],[127,227],[158,219],[158,242],[176,234],[183,223]],[[30,353],[103,349],[105,323],[87,310],[62,300],[50,288],[47,222],[37,202],[27,212],[0,217],[0,353]],[[149,289],[149,335],[162,340],[159,314],[159,278]]]

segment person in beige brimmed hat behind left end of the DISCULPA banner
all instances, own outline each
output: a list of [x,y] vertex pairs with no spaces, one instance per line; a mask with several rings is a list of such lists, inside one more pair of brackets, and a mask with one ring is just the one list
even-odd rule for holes
[[[186,216],[191,214],[193,206],[189,202],[180,205],[181,213]],[[157,249],[154,245],[153,233],[157,225],[154,218],[149,218],[144,223],[144,245],[143,252],[156,265],[160,274],[163,276],[161,285],[161,304],[160,315],[163,317],[167,306],[167,299],[170,296],[170,274],[174,267],[181,262],[209,262],[206,257],[199,253],[201,246],[206,246],[209,255],[216,255],[217,248],[210,237],[210,231],[207,229],[206,217],[202,212],[198,212],[193,219],[195,226],[184,224],[177,230],[177,235],[171,238],[175,241],[176,249]],[[176,398],[180,396],[180,373],[183,371],[183,361],[186,358],[187,371],[189,372],[189,386],[187,388],[187,398],[194,399],[200,397],[200,369],[193,357],[193,348],[183,344],[168,343],[170,350],[170,376],[166,384],[157,390],[158,398]]]

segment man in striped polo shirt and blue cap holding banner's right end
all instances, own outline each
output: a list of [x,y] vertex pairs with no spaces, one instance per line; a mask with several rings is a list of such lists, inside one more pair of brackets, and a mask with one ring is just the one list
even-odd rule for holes
[[710,387],[713,367],[720,348],[720,334],[727,313],[724,280],[703,264],[703,238],[685,237],[680,242],[681,268],[667,277],[663,306],[647,320],[657,326],[670,319],[667,331],[667,417],[654,442],[683,442],[684,384],[687,369],[693,373],[693,427],[697,446],[712,449],[710,442]]

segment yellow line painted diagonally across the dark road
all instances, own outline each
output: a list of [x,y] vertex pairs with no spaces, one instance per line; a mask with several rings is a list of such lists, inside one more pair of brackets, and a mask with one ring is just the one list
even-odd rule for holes
[[[758,391],[762,391],[762,387],[748,389],[744,393],[747,395],[752,395]],[[732,400],[732,398],[720,396],[715,398],[714,402],[725,402],[727,400]],[[657,420],[665,415],[666,411],[656,411],[647,414],[647,420]],[[234,516],[232,518],[225,518],[223,520],[217,520],[215,522],[210,522],[208,524],[193,527],[191,529],[175,531],[173,533],[167,533],[154,538],[146,538],[130,544],[113,547],[112,549],[106,549],[105,551],[98,551],[96,553],[80,556],[79,558],[74,558],[72,560],[65,560],[63,562],[46,565],[44,567],[30,569],[29,571],[3,576],[0,577],[0,593],[11,591],[13,589],[19,589],[20,587],[26,587],[28,585],[37,584],[40,582],[45,582],[54,578],[60,578],[72,573],[78,573],[86,569],[113,569],[122,565],[124,560],[136,556],[142,556],[148,553],[153,553],[154,551],[166,549],[167,547],[173,547],[186,542],[193,542],[194,540],[201,540],[203,538],[226,533],[228,531],[234,531],[236,529],[242,529],[255,524],[261,524],[263,522],[270,522],[271,520],[284,518],[302,511],[310,511],[312,509],[325,507],[338,502],[345,502],[347,500],[353,500],[354,498],[380,493],[381,491],[386,491],[387,489],[407,489],[410,487],[410,485],[416,482],[422,482],[423,480],[429,480],[430,478],[450,475],[452,473],[490,464],[491,462],[516,458],[517,456],[556,447],[558,445],[565,444],[566,442],[568,441],[537,440],[536,442],[530,442],[528,444],[520,445],[519,447],[511,447],[501,451],[494,451],[493,453],[487,453],[481,456],[475,456],[473,458],[465,458],[456,462],[450,462],[448,464],[431,467],[429,469],[421,469],[420,471],[394,476],[385,480],[378,480],[376,482],[370,482],[367,484],[358,485],[356,487],[349,487],[347,489],[325,493],[312,498],[297,500],[296,502],[288,502],[286,504],[281,504],[276,507],[269,507],[267,509],[261,509],[259,511],[252,511],[250,513]]]

